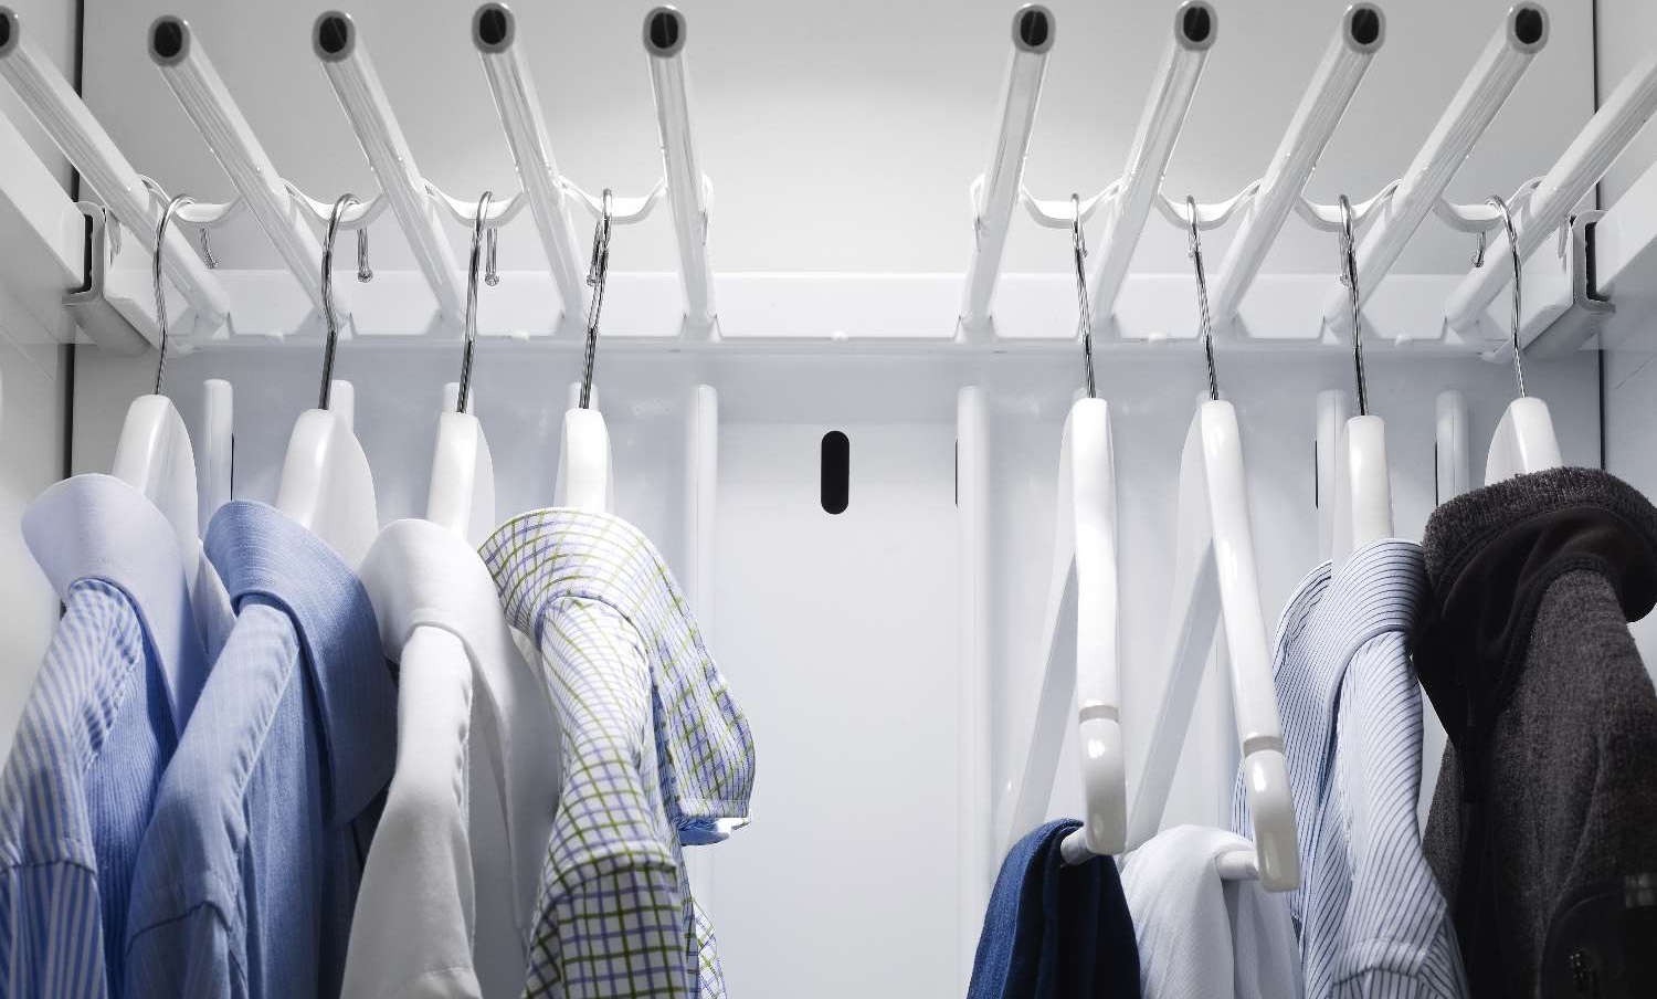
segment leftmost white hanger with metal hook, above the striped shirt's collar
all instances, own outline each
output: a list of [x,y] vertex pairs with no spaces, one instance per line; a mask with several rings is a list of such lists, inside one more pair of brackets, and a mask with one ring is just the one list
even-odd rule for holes
[[166,245],[167,225],[172,215],[194,202],[181,194],[167,202],[156,225],[156,258],[152,277],[156,285],[156,326],[161,335],[156,360],[156,391],[133,399],[121,424],[121,437],[114,447],[114,466],[109,474],[138,489],[156,504],[156,509],[172,525],[177,535],[179,557],[191,586],[200,570],[200,525],[196,517],[196,452],[191,434],[184,429],[172,399],[161,394],[167,373],[167,297],[161,282],[161,253]]

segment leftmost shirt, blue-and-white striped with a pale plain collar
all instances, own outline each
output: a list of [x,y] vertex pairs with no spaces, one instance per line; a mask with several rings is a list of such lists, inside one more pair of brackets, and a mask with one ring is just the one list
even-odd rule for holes
[[205,656],[172,525],[136,489],[68,479],[23,533],[65,613],[0,775],[0,996],[101,997]]

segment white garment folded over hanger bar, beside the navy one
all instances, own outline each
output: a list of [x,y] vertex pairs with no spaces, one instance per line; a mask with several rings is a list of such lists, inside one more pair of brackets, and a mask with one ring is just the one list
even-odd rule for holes
[[1122,891],[1133,915],[1143,999],[1297,999],[1299,949],[1284,896],[1225,881],[1215,861],[1253,850],[1200,825],[1165,830],[1128,855]]

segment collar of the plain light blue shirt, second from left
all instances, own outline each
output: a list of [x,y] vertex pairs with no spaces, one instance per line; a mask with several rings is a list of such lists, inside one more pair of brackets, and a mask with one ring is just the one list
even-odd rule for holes
[[374,608],[351,568],[275,507],[232,500],[207,525],[207,557],[230,601],[257,596],[293,621],[328,752],[330,822],[363,812],[391,774],[396,689]]

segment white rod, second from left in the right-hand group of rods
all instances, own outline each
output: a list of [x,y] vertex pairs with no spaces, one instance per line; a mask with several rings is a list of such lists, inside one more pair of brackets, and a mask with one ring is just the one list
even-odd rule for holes
[[1089,278],[1094,328],[1107,330],[1117,295],[1133,262],[1133,249],[1145,232],[1145,219],[1162,194],[1162,177],[1168,172],[1173,146],[1185,128],[1185,114],[1203,76],[1208,50],[1220,35],[1220,17],[1205,0],[1185,0],[1173,12],[1173,41],[1162,58],[1157,86],[1140,116],[1128,164],[1122,171],[1122,187],[1110,205],[1105,234],[1095,250],[1097,263]]

